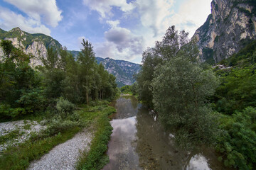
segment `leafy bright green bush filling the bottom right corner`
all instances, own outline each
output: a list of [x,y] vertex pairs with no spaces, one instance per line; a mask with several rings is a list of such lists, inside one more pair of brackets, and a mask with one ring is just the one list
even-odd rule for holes
[[249,107],[232,116],[223,115],[220,128],[223,135],[218,137],[217,151],[225,166],[238,169],[256,168],[256,109]]

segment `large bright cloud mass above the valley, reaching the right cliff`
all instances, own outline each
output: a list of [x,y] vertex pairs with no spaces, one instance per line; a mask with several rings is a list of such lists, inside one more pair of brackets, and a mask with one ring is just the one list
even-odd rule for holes
[[[113,6],[124,12],[122,16],[114,16],[119,20],[106,21],[111,27],[105,32],[106,42],[95,44],[95,51],[100,57],[124,57],[129,61],[135,57],[141,59],[143,50],[153,47],[172,25],[178,30],[185,29],[192,37],[210,14],[210,1],[185,0],[176,6],[176,0],[134,0],[129,4],[126,0],[83,0],[91,10],[100,13],[101,18],[114,16]],[[129,17],[139,20],[136,28],[118,26],[122,19]]]

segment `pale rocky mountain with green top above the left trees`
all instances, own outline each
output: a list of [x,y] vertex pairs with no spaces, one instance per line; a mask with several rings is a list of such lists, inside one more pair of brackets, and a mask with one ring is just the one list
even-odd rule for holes
[[0,40],[11,40],[14,47],[22,49],[27,54],[31,53],[34,56],[31,59],[33,66],[42,64],[39,57],[46,57],[47,47],[54,47],[55,49],[62,47],[57,40],[54,40],[50,36],[26,33],[20,28],[14,28],[9,31],[0,29]]

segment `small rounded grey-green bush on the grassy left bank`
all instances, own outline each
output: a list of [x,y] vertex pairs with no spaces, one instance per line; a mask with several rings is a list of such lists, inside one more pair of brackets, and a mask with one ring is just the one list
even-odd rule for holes
[[61,118],[69,118],[73,114],[75,105],[64,98],[59,98],[56,108]]

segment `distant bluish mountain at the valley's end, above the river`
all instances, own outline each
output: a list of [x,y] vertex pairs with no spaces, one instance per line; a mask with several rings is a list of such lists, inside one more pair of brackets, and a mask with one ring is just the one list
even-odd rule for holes
[[116,77],[117,86],[132,85],[135,82],[134,75],[139,73],[140,64],[124,60],[96,57],[97,63],[104,65],[107,72]]

